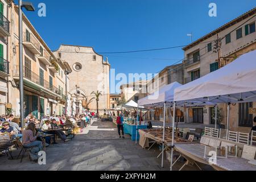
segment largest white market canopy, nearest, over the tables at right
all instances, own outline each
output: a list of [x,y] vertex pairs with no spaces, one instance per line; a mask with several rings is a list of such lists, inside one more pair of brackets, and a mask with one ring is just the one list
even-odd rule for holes
[[246,53],[225,67],[175,89],[177,105],[256,101],[256,51]]

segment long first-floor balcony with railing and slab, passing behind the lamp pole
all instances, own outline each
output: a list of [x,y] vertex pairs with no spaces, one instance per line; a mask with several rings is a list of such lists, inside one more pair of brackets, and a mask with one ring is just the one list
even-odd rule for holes
[[[13,77],[14,80],[19,80],[18,65],[14,65]],[[23,81],[24,85],[26,85],[28,88],[37,90],[39,92],[45,92],[55,97],[62,97],[61,90],[26,67],[23,67]]]

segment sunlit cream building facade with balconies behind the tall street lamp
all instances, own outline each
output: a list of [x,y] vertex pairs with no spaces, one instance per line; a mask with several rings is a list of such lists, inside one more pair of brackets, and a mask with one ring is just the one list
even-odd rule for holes
[[[1,5],[2,7],[2,5]],[[19,107],[19,30],[18,6],[13,1],[3,6],[8,9],[10,19],[6,53],[3,59],[8,59],[9,74],[6,77],[6,111],[2,114],[20,115]],[[43,115],[57,114],[57,105],[64,100],[61,89],[57,88],[56,73],[60,68],[58,60],[53,55],[42,37],[23,14],[23,82],[24,82],[24,114],[32,113],[40,119]],[[2,47],[2,46],[0,46]],[[5,46],[3,46],[5,52]],[[5,58],[6,57],[6,58]],[[3,61],[5,63],[5,61]]]

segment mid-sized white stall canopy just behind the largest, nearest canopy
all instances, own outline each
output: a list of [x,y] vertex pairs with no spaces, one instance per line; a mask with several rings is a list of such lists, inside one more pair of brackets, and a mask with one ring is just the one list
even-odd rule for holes
[[182,86],[178,82],[166,85],[150,96],[144,97],[138,101],[139,106],[163,106],[164,102],[172,103],[174,101],[174,89]]

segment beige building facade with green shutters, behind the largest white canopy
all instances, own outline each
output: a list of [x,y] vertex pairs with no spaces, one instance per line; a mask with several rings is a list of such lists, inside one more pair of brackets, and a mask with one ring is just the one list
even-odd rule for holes
[[[255,50],[255,14],[256,8],[184,47],[184,83],[214,72],[244,53]],[[221,42],[220,52],[216,49],[218,38]],[[220,59],[218,59],[219,57]],[[249,114],[249,107],[255,106],[255,102],[231,105],[230,130],[249,132],[250,127],[253,126],[253,115]],[[219,107],[222,123],[225,124],[227,105],[222,104]],[[207,125],[214,122],[213,107],[195,107],[192,109],[193,117],[189,118],[187,114],[187,122]]]

